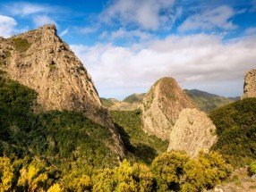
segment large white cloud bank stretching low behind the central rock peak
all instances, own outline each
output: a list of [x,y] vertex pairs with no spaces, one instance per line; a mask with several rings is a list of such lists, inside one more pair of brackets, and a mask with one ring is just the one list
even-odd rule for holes
[[220,94],[219,88],[223,88],[228,95],[241,93],[243,73],[255,68],[255,42],[256,38],[243,38],[223,43],[222,37],[198,34],[153,40],[140,50],[111,44],[73,45],[72,49],[103,96],[147,90],[164,76],[174,77],[184,87],[214,85],[210,92]]

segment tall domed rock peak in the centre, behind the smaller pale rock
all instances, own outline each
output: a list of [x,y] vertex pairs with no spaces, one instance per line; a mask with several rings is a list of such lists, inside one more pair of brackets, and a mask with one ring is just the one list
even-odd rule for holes
[[150,135],[168,140],[170,130],[185,108],[196,106],[175,79],[159,79],[142,100],[142,128]]

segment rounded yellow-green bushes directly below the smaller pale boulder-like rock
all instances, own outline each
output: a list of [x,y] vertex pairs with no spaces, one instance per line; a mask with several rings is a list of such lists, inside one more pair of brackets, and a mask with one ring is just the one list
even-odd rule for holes
[[183,152],[159,155],[151,164],[159,191],[201,191],[214,188],[232,168],[217,153],[201,153],[197,159]]

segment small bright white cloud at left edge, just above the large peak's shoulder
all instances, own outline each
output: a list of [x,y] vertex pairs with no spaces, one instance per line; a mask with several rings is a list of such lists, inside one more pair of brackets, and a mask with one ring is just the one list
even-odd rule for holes
[[17,22],[12,18],[4,15],[0,15],[0,36],[9,38],[15,33],[15,26]]

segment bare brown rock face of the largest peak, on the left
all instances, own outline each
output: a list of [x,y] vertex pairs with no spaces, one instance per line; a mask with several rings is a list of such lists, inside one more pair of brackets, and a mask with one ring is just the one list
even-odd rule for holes
[[1,38],[0,70],[36,90],[42,109],[79,111],[108,127],[115,139],[115,152],[124,156],[123,142],[99,100],[90,75],[56,35],[54,25]]

